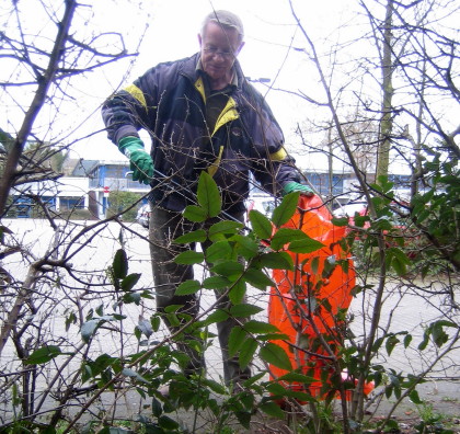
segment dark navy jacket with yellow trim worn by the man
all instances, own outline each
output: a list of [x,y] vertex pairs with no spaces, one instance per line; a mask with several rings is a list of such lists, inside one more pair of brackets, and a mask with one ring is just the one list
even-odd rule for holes
[[231,91],[214,132],[206,124],[206,80],[196,69],[199,54],[149,69],[134,84],[103,105],[108,138],[118,144],[146,129],[152,139],[156,174],[152,198],[171,210],[192,203],[202,170],[212,174],[221,190],[223,209],[244,209],[250,173],[265,191],[279,194],[289,181],[299,181],[284,137],[262,95],[245,80],[235,61],[238,85]]

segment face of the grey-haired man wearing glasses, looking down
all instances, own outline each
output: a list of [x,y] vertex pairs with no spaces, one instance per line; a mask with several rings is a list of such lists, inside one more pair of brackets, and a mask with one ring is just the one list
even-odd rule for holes
[[210,22],[203,37],[198,35],[202,47],[202,65],[212,80],[222,80],[230,76],[237,55],[244,43],[240,42],[237,30],[222,28]]

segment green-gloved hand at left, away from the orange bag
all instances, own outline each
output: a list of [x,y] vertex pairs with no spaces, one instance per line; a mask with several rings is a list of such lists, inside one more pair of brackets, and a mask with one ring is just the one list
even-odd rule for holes
[[129,158],[129,167],[133,170],[133,181],[149,184],[153,178],[153,160],[143,148],[139,137],[124,137],[118,142],[118,149]]

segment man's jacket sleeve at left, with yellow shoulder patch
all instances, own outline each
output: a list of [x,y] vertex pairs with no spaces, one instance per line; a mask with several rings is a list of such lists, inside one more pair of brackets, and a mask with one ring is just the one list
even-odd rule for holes
[[102,106],[108,138],[117,145],[126,136],[139,137],[138,130],[148,128],[154,117],[154,73],[147,71],[133,84],[110,96]]

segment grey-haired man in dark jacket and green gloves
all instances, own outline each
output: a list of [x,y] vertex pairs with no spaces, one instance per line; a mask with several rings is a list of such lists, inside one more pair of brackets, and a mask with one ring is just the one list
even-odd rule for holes
[[[108,138],[129,158],[133,179],[152,186],[150,245],[160,311],[181,305],[182,312],[196,317],[199,310],[196,295],[174,296],[177,285],[194,275],[192,266],[174,263],[181,248],[172,240],[195,228],[182,212],[193,203],[203,170],[219,186],[222,209],[238,220],[243,219],[250,174],[273,195],[312,194],[299,183],[272,111],[243,76],[237,60],[243,35],[235,14],[209,13],[198,35],[199,53],[151,68],[103,106]],[[151,136],[150,153],[139,139],[141,128]],[[218,324],[225,380],[233,386],[250,377],[249,369],[228,356],[234,324]],[[186,374],[204,367],[197,353],[180,347],[191,358]]]

